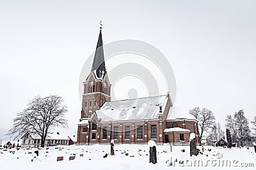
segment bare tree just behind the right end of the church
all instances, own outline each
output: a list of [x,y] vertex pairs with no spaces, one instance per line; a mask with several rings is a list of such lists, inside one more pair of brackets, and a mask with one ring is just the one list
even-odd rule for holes
[[214,114],[207,108],[202,108],[202,110],[200,110],[198,107],[189,110],[189,113],[196,118],[198,125],[200,126],[201,132],[199,132],[199,136],[200,141],[202,141],[204,132],[207,132],[207,130],[216,124]]

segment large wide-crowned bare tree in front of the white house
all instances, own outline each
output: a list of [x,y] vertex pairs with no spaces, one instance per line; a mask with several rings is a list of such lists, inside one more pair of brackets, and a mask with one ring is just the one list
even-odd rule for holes
[[17,113],[8,134],[15,138],[24,134],[38,135],[41,138],[41,146],[44,147],[45,139],[54,127],[67,127],[67,107],[63,106],[62,102],[60,96],[36,96],[29,102],[27,108]]

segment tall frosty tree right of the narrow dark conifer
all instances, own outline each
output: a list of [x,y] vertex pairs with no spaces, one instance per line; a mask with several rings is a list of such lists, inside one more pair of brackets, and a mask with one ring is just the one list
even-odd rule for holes
[[250,139],[250,127],[246,117],[244,117],[244,111],[239,110],[234,114],[234,125],[236,129],[237,139],[241,145],[244,145],[246,139]]

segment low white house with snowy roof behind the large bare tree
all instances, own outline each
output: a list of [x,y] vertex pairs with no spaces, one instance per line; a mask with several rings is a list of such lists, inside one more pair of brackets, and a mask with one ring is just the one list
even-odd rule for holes
[[[54,145],[69,145],[69,140],[67,135],[60,134],[59,132],[55,132],[53,134],[49,134],[45,139],[45,146],[54,146]],[[38,147],[41,146],[41,137],[35,134],[24,134],[21,137],[21,148],[29,148],[29,147]]]

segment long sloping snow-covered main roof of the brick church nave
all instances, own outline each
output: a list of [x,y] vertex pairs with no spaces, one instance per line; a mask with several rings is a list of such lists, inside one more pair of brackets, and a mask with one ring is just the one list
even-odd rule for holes
[[157,119],[159,106],[164,111],[167,100],[168,95],[110,101],[95,113],[101,122]]

